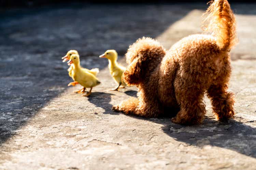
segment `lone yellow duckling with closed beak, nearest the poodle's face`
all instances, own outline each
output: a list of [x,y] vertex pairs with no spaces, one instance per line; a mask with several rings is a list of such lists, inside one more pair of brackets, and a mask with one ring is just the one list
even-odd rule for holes
[[108,58],[109,60],[109,72],[118,86],[113,90],[118,90],[122,85],[125,88],[126,84],[122,81],[122,75],[125,71],[125,67],[120,66],[117,61],[117,52],[115,50],[107,50],[104,54],[100,55],[100,58]]

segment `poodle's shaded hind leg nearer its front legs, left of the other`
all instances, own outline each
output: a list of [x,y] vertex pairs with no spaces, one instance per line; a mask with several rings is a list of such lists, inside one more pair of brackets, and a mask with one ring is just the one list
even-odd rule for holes
[[172,122],[186,125],[201,123],[206,113],[203,95],[204,90],[198,88],[187,90],[183,88],[177,91],[176,99],[180,105],[180,111],[176,117],[172,118]]

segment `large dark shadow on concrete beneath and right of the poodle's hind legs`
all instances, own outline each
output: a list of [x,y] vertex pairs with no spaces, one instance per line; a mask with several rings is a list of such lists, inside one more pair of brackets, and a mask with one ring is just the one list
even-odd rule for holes
[[206,116],[202,124],[194,126],[174,124],[170,118],[152,118],[149,121],[163,124],[163,132],[177,141],[187,143],[188,146],[202,148],[210,145],[256,158],[256,130],[247,124],[256,121],[245,124],[231,119],[228,123],[223,123],[214,116]]

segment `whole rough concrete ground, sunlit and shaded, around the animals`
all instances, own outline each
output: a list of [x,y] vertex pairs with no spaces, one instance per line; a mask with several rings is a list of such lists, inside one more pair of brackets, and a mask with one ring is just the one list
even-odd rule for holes
[[[205,98],[207,115],[196,126],[111,111],[136,88],[109,91],[115,83],[98,56],[116,49],[125,65],[137,38],[169,48],[200,33],[205,4],[66,4],[1,14],[0,169],[255,169],[256,4],[231,6],[240,41],[229,88],[236,116],[218,122]],[[102,84],[89,98],[67,87],[60,58],[70,49],[82,66],[100,68]]]

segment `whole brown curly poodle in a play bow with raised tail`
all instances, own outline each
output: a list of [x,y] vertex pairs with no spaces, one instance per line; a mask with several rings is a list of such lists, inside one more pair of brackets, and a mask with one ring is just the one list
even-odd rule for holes
[[206,112],[206,92],[218,120],[233,118],[234,94],[227,89],[231,74],[229,51],[236,43],[235,17],[227,0],[211,2],[206,13],[206,30],[212,35],[190,35],[168,51],[145,37],[129,47],[129,65],[123,80],[137,85],[138,98],[114,105],[114,111],[158,117],[172,114],[170,108],[178,108],[172,122],[197,124]]

